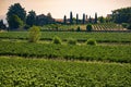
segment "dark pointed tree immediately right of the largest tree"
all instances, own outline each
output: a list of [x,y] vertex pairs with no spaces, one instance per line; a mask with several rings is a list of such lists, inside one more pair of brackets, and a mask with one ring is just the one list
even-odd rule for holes
[[26,24],[29,26],[33,26],[33,25],[35,25],[35,23],[36,23],[36,13],[35,13],[35,11],[32,10],[28,12],[28,15],[26,18]]

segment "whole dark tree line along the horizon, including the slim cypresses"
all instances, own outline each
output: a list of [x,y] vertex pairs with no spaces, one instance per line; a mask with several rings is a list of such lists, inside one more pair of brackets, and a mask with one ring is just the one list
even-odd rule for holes
[[[13,5],[9,7],[9,11],[7,13],[7,21],[9,25],[9,29],[21,29],[21,28],[29,28],[33,25],[36,26],[44,26],[47,24],[97,24],[97,23],[107,23],[114,22],[122,24],[127,28],[131,28],[131,8],[123,8],[114,10],[110,16],[97,16],[95,13],[95,18],[87,16],[83,13],[83,18],[79,18],[79,14],[73,16],[73,13],[70,12],[70,18],[67,18],[67,15],[63,16],[62,22],[57,22],[52,16],[51,13],[39,14],[37,15],[35,11],[29,11],[28,14],[26,13],[25,9],[22,8],[20,3],[14,3]],[[0,28],[4,29],[7,26],[3,24],[3,21],[0,21]]]

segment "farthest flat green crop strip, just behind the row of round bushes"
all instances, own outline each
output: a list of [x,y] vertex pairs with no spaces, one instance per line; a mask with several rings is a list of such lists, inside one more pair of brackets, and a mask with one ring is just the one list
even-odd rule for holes
[[[82,32],[41,32],[41,40],[52,40],[55,36],[62,40],[74,38],[79,41],[86,41],[90,38],[98,42],[131,42],[130,33],[82,33]],[[27,32],[0,33],[0,39],[27,39]]]

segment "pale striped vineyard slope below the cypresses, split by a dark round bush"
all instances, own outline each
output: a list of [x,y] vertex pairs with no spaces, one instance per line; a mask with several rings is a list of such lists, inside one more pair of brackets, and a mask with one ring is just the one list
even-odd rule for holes
[[[121,25],[119,24],[115,24],[115,23],[100,23],[100,24],[92,24],[93,26],[93,30],[95,32],[100,32],[100,30],[105,30],[105,32],[109,32],[109,30],[128,30],[127,28],[123,28]],[[57,28],[56,28],[57,27]],[[78,27],[80,27],[80,30],[86,30],[86,25],[55,25],[55,24],[50,24],[50,25],[45,25],[41,27],[41,30],[61,30],[61,32],[75,32],[78,30]]]

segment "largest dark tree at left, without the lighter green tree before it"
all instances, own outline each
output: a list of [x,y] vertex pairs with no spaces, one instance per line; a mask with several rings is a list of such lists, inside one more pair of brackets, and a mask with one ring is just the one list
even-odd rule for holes
[[24,8],[21,7],[20,3],[14,3],[13,5],[11,5],[7,13],[7,21],[11,29],[15,27],[15,25],[12,24],[12,18],[15,18],[14,15],[16,15],[19,18],[21,18],[21,21],[25,23],[26,11],[24,10]]

